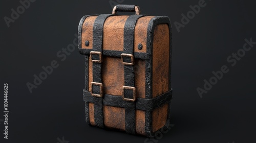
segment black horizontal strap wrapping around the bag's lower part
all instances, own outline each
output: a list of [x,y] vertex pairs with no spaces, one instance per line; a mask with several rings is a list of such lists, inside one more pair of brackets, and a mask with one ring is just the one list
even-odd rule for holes
[[[170,102],[172,97],[173,89],[153,99],[137,98],[135,108],[143,111],[153,111],[154,109]],[[93,96],[91,96],[91,92],[83,90],[83,100],[85,102],[93,103],[94,101]],[[124,101],[122,96],[111,96],[109,94],[104,94],[103,105],[125,108],[126,102],[128,101]]]

